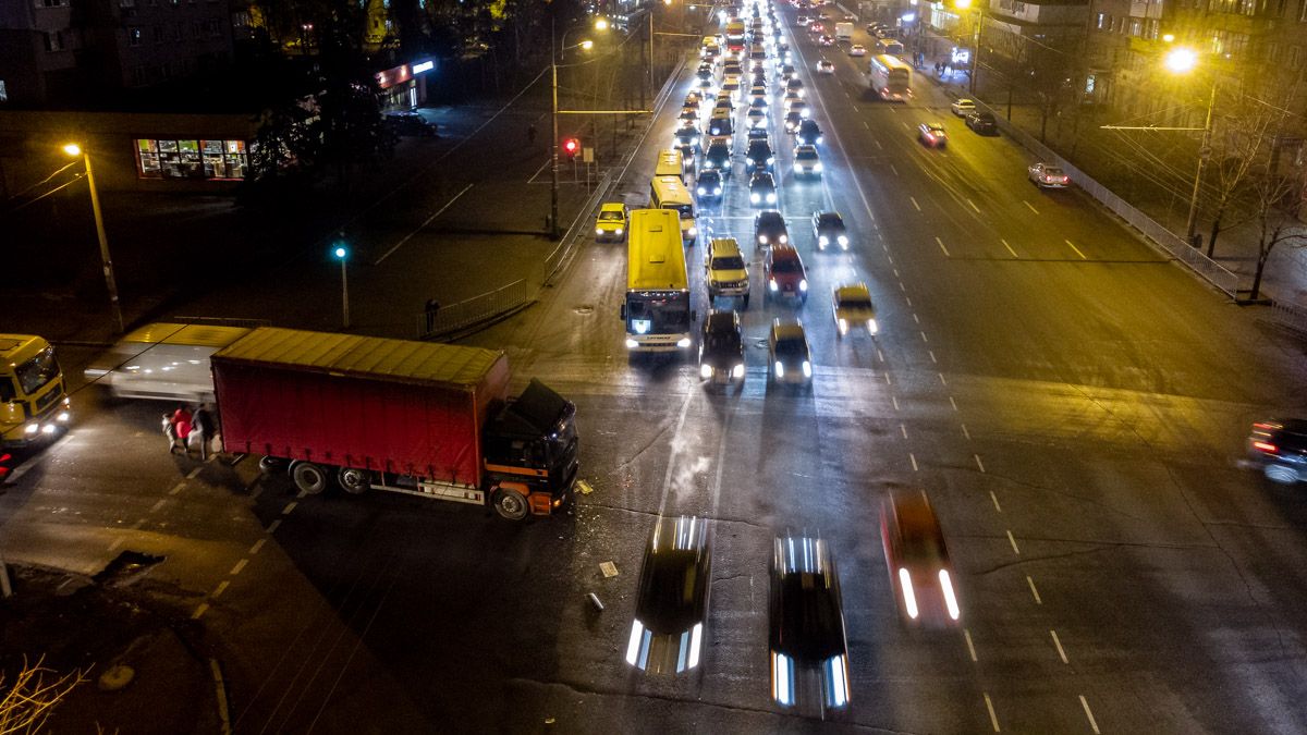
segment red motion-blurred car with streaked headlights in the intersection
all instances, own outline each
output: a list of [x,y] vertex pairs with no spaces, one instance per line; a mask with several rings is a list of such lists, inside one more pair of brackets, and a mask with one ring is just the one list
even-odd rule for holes
[[881,543],[899,615],[932,628],[957,625],[953,565],[925,490],[890,494],[881,506]]

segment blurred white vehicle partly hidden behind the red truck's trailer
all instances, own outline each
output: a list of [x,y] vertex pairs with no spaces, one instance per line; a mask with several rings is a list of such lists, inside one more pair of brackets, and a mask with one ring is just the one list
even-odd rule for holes
[[128,333],[82,374],[114,398],[212,403],[209,356],[248,332],[246,327],[149,324]]

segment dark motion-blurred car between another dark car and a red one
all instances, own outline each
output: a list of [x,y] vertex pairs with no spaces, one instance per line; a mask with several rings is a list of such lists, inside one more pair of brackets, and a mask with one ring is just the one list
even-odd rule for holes
[[772,541],[769,595],[771,698],[780,706],[848,705],[848,642],[839,574],[822,539]]

